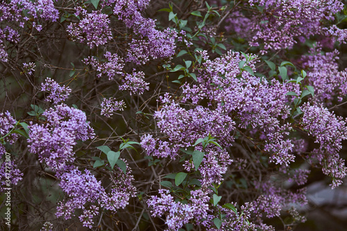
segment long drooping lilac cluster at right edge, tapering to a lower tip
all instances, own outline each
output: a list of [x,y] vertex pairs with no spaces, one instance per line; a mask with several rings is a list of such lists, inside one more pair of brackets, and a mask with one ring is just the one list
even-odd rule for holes
[[347,139],[346,121],[322,105],[305,103],[301,110],[304,113],[301,119],[303,128],[320,144],[319,148],[312,151],[312,156],[323,167],[323,173],[332,177],[332,188],[335,188],[341,185],[341,179],[347,175],[344,160],[339,157],[341,142]]

